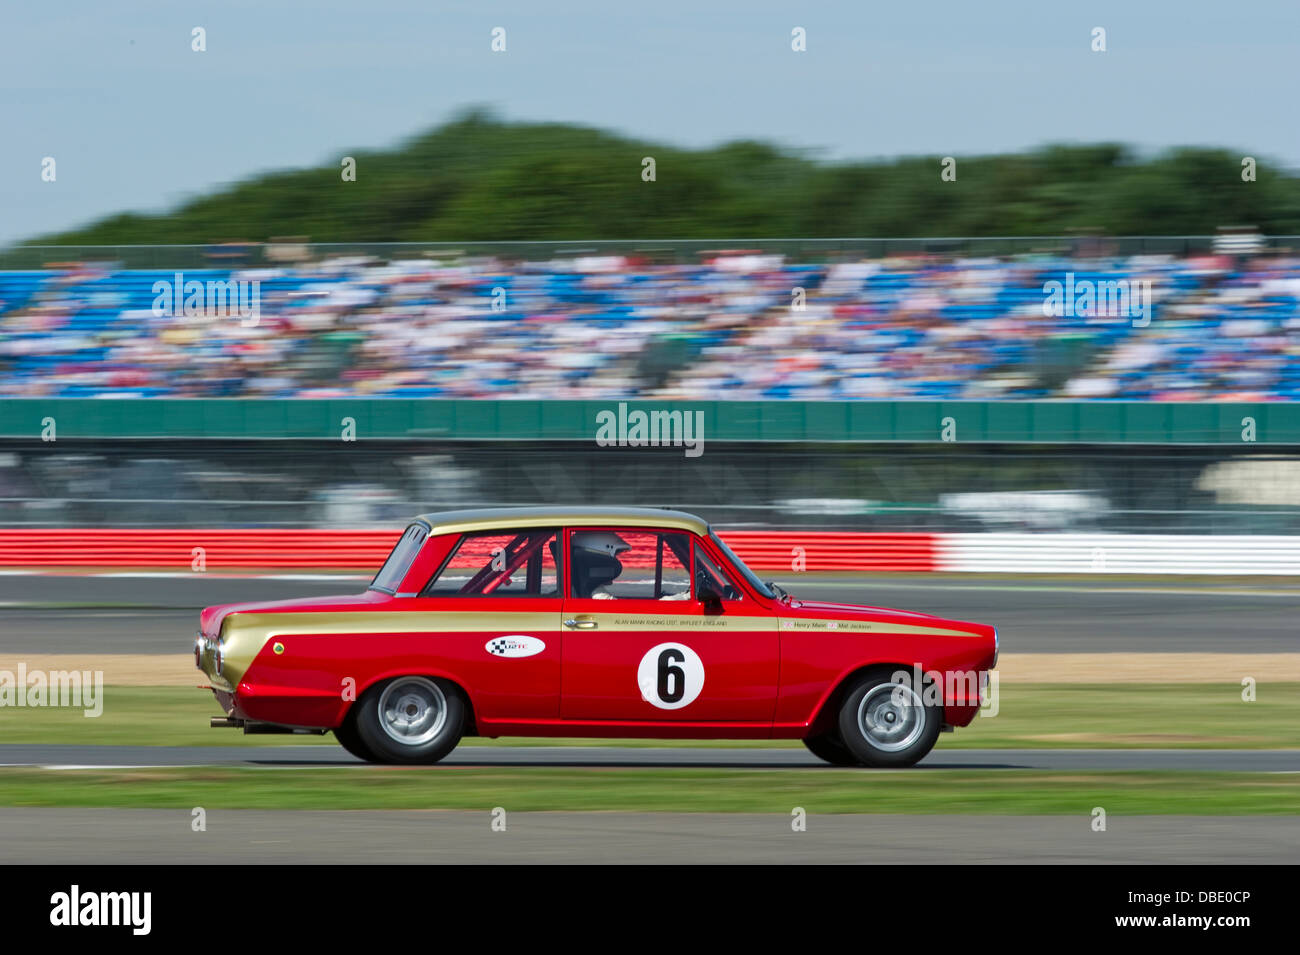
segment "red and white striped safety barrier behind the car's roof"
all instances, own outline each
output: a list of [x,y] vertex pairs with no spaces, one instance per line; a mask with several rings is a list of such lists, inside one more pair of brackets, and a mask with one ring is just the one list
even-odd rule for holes
[[[0,530],[0,568],[373,572],[399,530]],[[1300,574],[1300,537],[725,531],[755,570]]]

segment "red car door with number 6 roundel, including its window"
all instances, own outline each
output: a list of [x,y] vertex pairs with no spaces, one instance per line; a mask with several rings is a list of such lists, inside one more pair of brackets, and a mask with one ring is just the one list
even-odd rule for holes
[[[740,589],[706,605],[697,554],[705,555],[702,542],[686,531],[566,531],[566,720],[772,721],[776,618]],[[612,577],[602,556],[618,565]]]

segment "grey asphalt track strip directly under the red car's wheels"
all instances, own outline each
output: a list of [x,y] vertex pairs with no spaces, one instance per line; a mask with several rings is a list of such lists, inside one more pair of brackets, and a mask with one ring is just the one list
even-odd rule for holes
[[[920,769],[1180,769],[1300,773],[1300,750],[944,750]],[[27,767],[361,767],[341,746],[48,746],[0,743],[0,765]],[[797,748],[632,746],[458,746],[448,767],[706,767],[720,769],[836,769]],[[900,770],[881,770],[900,772]],[[902,770],[915,772],[915,770]],[[0,843],[3,845],[3,843]]]

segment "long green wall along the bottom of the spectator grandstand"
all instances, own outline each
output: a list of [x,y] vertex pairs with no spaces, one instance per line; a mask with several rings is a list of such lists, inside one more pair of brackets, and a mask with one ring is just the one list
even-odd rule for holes
[[[1300,401],[618,401],[514,399],[0,398],[0,439],[304,440],[334,453],[370,440],[577,442],[601,414],[699,412],[716,443],[1300,444]],[[343,440],[344,431],[355,440]],[[680,448],[664,453],[684,453]]]

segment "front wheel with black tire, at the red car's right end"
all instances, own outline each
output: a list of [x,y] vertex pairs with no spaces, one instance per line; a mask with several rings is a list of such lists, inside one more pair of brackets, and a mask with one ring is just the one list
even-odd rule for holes
[[910,767],[935,747],[944,708],[927,706],[924,687],[901,670],[862,678],[840,706],[840,739],[868,767]]

